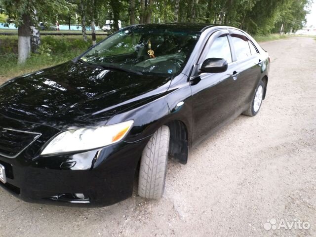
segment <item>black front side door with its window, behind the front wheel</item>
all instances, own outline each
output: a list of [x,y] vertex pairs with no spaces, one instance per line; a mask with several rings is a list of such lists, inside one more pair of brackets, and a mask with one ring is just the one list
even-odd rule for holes
[[223,73],[196,73],[191,77],[193,108],[193,142],[202,140],[234,117],[239,96],[236,63],[233,62],[229,32],[222,30],[210,36],[197,67],[207,58],[224,58],[228,69]]

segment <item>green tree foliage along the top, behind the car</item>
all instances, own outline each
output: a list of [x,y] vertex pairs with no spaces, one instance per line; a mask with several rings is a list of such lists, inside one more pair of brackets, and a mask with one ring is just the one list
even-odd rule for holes
[[[305,23],[312,0],[0,0],[10,20],[17,25],[27,12],[33,20],[55,23],[91,21],[100,27],[113,20],[123,26],[138,23],[205,22],[236,26],[251,34],[291,32]],[[84,4],[83,8],[80,4]],[[78,18],[75,19],[75,15]]]

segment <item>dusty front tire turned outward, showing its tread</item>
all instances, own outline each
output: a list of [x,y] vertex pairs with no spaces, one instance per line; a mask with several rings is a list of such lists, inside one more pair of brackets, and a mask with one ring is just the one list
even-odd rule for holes
[[166,179],[170,130],[163,125],[147,143],[140,162],[138,195],[145,198],[162,197]]

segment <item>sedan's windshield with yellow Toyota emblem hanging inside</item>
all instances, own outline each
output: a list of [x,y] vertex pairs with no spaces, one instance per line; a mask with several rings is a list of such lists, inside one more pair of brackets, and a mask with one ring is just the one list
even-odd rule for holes
[[81,56],[80,61],[139,74],[181,72],[199,32],[130,27],[118,31]]

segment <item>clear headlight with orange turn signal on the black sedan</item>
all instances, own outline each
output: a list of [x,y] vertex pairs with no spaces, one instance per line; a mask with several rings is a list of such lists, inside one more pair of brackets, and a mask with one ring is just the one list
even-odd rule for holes
[[133,123],[133,120],[129,120],[114,125],[80,128],[60,133],[48,143],[40,155],[87,151],[105,147],[122,140]]

